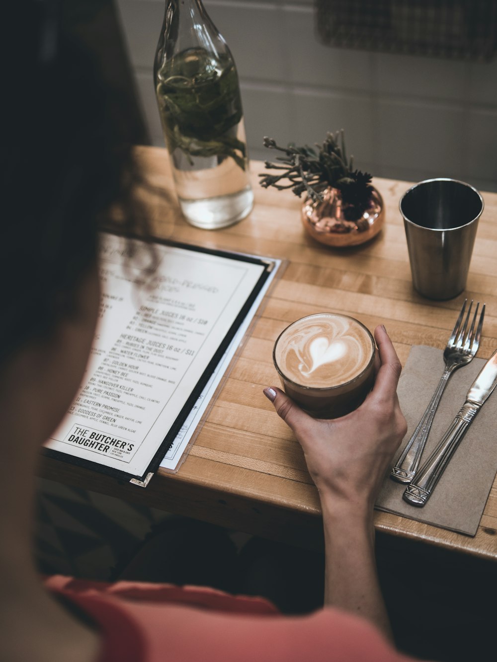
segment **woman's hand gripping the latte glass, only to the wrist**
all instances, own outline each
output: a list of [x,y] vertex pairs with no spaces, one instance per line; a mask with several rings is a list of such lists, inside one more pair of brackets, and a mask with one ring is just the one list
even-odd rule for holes
[[372,512],[385,473],[406,434],[396,394],[400,361],[384,326],[376,327],[374,338],[379,350],[374,387],[347,416],[315,419],[280,389],[264,390],[302,445],[321,501],[332,500],[334,510],[353,506],[355,512],[358,508],[362,513]]

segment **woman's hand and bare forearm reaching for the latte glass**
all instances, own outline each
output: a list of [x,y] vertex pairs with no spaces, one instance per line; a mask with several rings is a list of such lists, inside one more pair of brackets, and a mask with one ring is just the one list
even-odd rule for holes
[[319,491],[325,536],[325,605],[368,619],[391,638],[374,559],[373,506],[392,457],[406,434],[397,399],[400,361],[384,326],[374,338],[376,381],[361,406],[342,418],[305,414],[280,389],[265,389],[294,430]]

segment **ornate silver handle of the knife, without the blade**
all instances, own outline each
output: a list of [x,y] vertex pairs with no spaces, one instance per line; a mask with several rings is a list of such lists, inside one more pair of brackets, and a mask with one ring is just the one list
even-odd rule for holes
[[463,404],[457,416],[447,428],[447,432],[445,432],[421,469],[417,471],[412,483],[402,495],[405,501],[413,506],[425,505],[480,406],[475,402],[465,402]]

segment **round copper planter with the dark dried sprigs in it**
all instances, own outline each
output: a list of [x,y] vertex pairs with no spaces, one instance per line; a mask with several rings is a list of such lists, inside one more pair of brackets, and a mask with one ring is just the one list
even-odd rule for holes
[[353,246],[368,241],[383,224],[383,201],[371,184],[371,175],[347,162],[343,130],[328,133],[316,149],[289,144],[280,147],[272,138],[264,146],[282,152],[278,163],[265,162],[277,173],[260,173],[260,185],[306,193],[302,221],[315,239],[329,246]]

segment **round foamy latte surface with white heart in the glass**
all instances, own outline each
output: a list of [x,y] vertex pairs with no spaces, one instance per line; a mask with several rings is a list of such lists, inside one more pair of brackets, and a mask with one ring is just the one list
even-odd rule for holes
[[274,359],[288,379],[319,389],[360,375],[372,352],[370,335],[357,320],[322,313],[290,324],[276,342]]

